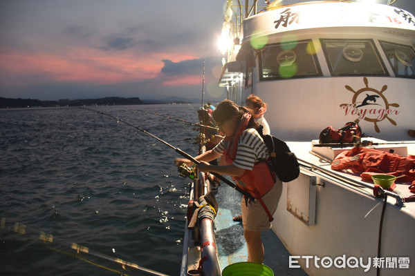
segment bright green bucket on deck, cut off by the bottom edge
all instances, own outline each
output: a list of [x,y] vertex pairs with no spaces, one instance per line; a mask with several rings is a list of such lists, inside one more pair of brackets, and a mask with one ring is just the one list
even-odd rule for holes
[[241,262],[226,266],[222,276],[274,276],[274,273],[264,264]]

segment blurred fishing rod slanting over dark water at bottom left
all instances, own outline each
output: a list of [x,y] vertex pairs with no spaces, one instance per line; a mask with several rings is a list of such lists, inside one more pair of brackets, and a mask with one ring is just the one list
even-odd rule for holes
[[[8,226],[10,224],[10,226]],[[68,255],[71,257],[75,257],[75,259],[80,259],[84,262],[89,264],[93,264],[94,266],[98,266],[100,268],[104,268],[107,270],[112,271],[113,273],[118,273],[120,275],[127,276],[126,271],[127,269],[136,269],[142,272],[148,273],[149,275],[155,276],[168,276],[164,273],[159,273],[155,270],[151,270],[149,268],[145,268],[142,266],[138,266],[138,264],[133,264],[131,262],[124,261],[123,259],[119,259],[116,257],[111,257],[109,255],[102,254],[98,251],[91,250],[86,246],[80,246],[79,244],[71,243],[70,246],[62,244],[62,242],[58,243],[54,240],[52,234],[47,234],[42,231],[36,231],[34,229],[29,229],[26,225],[21,224],[19,222],[13,223],[12,221],[6,221],[5,217],[1,218],[0,230],[9,230],[10,232],[17,233],[18,235],[28,237],[31,242],[35,242],[36,244],[45,246],[46,248],[53,250],[57,253],[61,253],[64,255]],[[104,266],[102,264],[98,264],[95,261],[91,261],[91,257],[89,259],[86,256],[93,256],[98,257],[99,259],[107,260],[116,266],[121,266],[122,271],[118,270],[120,268],[114,269],[109,268],[108,266]]]

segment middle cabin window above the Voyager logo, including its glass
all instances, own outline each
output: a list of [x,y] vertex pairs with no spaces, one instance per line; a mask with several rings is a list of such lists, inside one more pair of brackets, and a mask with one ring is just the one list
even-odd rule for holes
[[371,39],[320,39],[332,76],[389,76]]

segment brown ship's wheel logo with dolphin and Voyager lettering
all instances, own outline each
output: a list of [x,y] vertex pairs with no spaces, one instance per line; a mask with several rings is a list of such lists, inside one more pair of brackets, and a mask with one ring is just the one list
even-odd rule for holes
[[345,115],[355,115],[359,120],[364,119],[374,123],[374,128],[376,132],[380,132],[378,122],[385,119],[396,126],[396,121],[391,117],[399,114],[399,110],[396,108],[399,107],[398,103],[389,103],[383,92],[387,90],[387,86],[384,85],[381,90],[376,90],[375,88],[370,88],[367,78],[363,78],[365,83],[364,88],[360,88],[355,91],[350,86],[344,86],[347,90],[354,93],[351,103],[342,103],[340,108],[345,112]]

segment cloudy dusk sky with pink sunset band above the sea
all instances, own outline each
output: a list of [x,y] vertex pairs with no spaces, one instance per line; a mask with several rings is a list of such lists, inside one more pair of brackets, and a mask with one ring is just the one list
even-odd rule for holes
[[224,3],[0,0],[0,97],[200,99],[205,59],[205,97],[223,99]]

